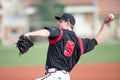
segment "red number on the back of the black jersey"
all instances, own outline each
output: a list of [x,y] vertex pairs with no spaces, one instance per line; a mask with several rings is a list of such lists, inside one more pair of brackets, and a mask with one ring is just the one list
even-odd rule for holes
[[67,41],[65,45],[64,55],[70,57],[73,53],[75,43],[73,41]]

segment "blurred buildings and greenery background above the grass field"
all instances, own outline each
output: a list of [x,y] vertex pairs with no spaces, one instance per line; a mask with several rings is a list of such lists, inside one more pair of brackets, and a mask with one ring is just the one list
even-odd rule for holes
[[[55,27],[54,16],[75,16],[74,31],[81,37],[94,37],[104,17],[113,13],[103,41],[120,39],[120,0],[0,0],[0,44],[13,45],[18,36],[44,27]],[[40,41],[33,38],[34,41]]]

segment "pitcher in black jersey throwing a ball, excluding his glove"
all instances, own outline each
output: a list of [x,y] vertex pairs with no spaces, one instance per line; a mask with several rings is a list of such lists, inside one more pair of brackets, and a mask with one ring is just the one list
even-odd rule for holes
[[75,18],[64,13],[55,16],[57,27],[26,33],[25,36],[48,38],[49,47],[46,60],[46,75],[36,80],[70,80],[69,72],[76,65],[80,56],[93,50],[100,43],[106,25],[114,19],[112,14],[105,17],[101,29],[95,38],[80,38],[73,32]]

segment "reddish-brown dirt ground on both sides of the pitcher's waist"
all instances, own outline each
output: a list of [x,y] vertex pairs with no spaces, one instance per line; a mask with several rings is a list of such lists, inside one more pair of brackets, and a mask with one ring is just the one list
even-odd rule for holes
[[[44,66],[0,67],[0,80],[35,80],[44,72]],[[120,63],[76,65],[70,76],[71,80],[120,80]]]

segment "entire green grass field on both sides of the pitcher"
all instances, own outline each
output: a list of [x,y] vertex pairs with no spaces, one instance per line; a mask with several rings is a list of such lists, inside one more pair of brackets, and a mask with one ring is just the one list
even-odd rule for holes
[[[32,66],[43,65],[46,60],[48,43],[36,43],[26,54],[19,57],[14,46],[0,46],[0,66]],[[120,42],[102,43],[83,56],[79,64],[86,63],[120,63]]]

